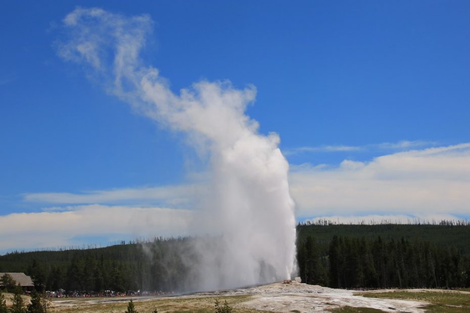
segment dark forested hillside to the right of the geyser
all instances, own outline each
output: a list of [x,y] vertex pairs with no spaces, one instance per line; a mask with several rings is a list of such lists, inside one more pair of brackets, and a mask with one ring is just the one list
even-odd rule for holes
[[335,288],[470,286],[470,225],[299,224],[303,282]]

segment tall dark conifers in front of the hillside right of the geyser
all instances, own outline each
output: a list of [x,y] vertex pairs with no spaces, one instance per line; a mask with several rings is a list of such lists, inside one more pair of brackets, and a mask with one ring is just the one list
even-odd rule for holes
[[313,236],[297,243],[300,277],[333,288],[458,288],[470,286],[470,257],[429,241],[334,235],[321,250]]

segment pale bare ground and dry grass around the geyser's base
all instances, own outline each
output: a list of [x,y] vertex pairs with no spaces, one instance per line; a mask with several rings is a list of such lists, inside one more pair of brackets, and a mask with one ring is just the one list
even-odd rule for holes
[[[136,308],[158,307],[166,311],[213,311],[215,299],[227,299],[237,312],[328,312],[342,306],[368,307],[385,312],[425,312],[425,302],[367,298],[354,295],[354,290],[332,289],[321,286],[291,283],[274,283],[244,289],[199,292],[174,297],[134,297]],[[122,311],[130,297],[123,298],[77,298],[53,301],[53,311]],[[113,305],[114,304],[114,305]],[[118,305],[119,304],[119,305]],[[139,310],[140,311],[140,310]]]

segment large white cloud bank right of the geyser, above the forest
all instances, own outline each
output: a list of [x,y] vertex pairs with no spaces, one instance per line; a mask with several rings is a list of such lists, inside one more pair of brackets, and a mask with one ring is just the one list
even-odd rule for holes
[[410,150],[368,163],[294,167],[298,217],[364,214],[469,216],[470,143]]

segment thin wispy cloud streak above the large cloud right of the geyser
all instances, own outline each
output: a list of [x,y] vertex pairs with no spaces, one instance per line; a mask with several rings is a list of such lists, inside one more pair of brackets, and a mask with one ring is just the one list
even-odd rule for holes
[[325,153],[325,152],[348,152],[348,151],[390,151],[390,150],[406,150],[418,147],[429,147],[436,145],[434,141],[423,140],[402,140],[398,142],[382,142],[376,144],[366,144],[361,146],[352,145],[320,145],[320,146],[303,146],[292,149],[285,149],[285,155],[298,154],[303,152]]

